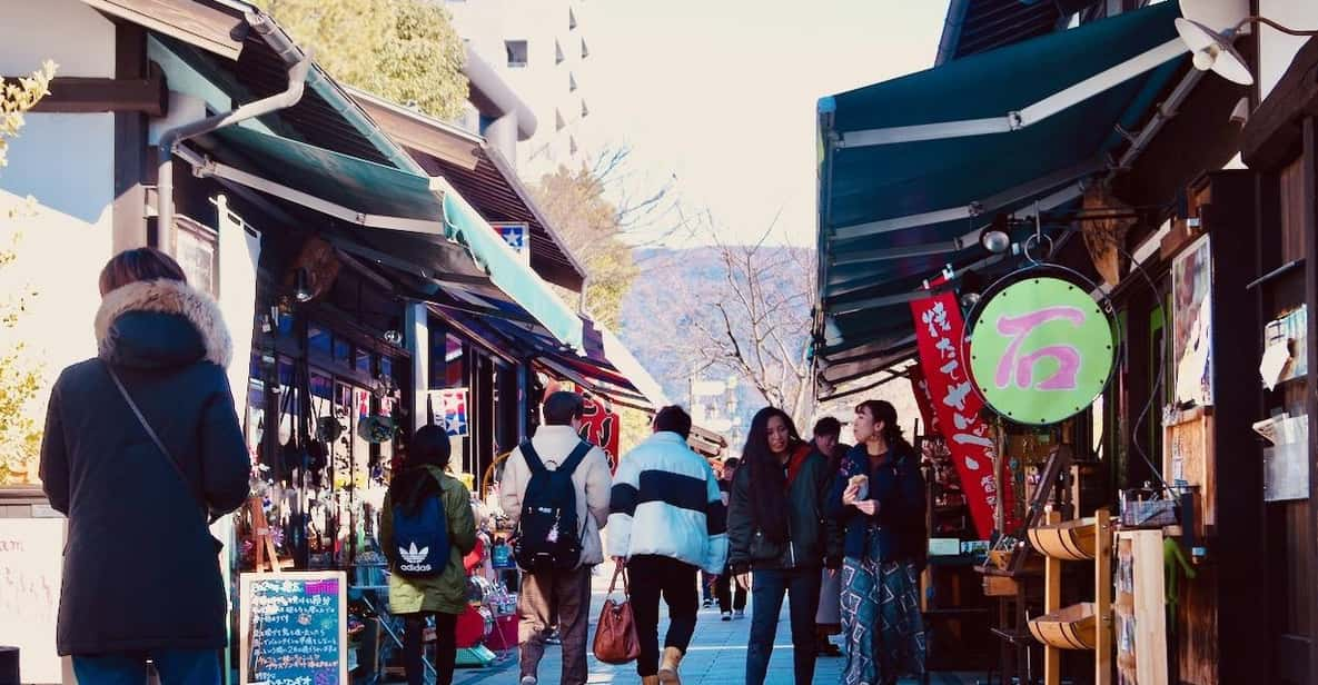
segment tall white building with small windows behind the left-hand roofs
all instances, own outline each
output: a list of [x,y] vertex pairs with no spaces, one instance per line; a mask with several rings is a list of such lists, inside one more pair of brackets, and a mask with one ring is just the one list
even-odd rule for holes
[[[468,54],[489,65],[535,115],[535,134],[517,148],[518,173],[536,178],[585,158],[590,105],[583,30],[587,0],[445,0]],[[488,121],[473,115],[468,128]],[[474,124],[474,126],[472,125]]]

